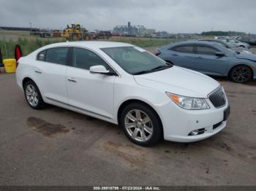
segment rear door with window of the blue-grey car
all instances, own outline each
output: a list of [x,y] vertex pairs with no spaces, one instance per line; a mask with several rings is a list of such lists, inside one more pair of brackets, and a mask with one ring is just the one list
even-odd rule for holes
[[192,69],[195,63],[195,47],[192,44],[178,45],[170,50],[170,57],[174,65]]

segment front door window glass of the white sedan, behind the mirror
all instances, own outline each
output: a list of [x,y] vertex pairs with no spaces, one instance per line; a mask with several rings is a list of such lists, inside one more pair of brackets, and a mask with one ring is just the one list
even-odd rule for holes
[[73,48],[72,66],[79,69],[89,70],[91,66],[102,65],[111,70],[108,63],[102,60],[97,54],[83,48]]

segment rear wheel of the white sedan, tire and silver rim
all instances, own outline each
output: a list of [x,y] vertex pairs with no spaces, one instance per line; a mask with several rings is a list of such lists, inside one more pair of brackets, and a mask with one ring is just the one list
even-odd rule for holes
[[29,104],[29,106],[31,106],[32,109],[42,109],[45,107],[45,102],[42,100],[42,95],[37,85],[33,81],[29,80],[24,85],[24,95],[26,102]]

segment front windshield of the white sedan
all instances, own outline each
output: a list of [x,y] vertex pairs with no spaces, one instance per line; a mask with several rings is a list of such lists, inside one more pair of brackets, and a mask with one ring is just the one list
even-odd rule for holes
[[151,55],[140,47],[102,48],[122,69],[129,74],[139,75],[170,68],[170,64]]

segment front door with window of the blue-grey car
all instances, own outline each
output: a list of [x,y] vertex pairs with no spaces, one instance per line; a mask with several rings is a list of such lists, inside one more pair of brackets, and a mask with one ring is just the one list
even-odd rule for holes
[[204,74],[224,75],[227,68],[227,56],[219,57],[215,47],[197,44],[194,70]]

